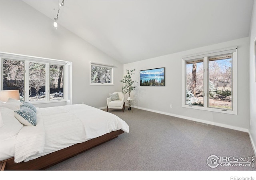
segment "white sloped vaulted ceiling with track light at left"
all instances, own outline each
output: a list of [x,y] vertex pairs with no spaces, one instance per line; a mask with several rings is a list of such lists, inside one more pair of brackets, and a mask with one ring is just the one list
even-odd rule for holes
[[[62,0],[23,1],[53,20]],[[253,0],[65,0],[58,24],[126,64],[247,37],[252,7]]]

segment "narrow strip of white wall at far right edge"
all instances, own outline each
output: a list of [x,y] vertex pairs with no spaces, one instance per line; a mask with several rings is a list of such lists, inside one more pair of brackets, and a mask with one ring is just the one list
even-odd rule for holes
[[256,0],[252,10],[250,29],[250,138],[256,154],[256,77],[254,40],[256,39]]

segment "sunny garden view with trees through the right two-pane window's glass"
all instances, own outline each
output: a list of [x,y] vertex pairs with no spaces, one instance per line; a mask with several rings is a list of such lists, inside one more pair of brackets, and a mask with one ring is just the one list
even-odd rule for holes
[[208,86],[204,86],[204,58],[186,61],[185,104],[204,106],[207,96],[207,107],[232,110],[232,54],[208,57],[206,71]]

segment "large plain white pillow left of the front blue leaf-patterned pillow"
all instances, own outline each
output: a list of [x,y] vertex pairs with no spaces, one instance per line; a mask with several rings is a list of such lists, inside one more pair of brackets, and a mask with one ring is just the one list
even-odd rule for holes
[[0,107],[0,112],[4,123],[0,128],[0,140],[5,140],[18,134],[23,124],[15,118],[13,110]]

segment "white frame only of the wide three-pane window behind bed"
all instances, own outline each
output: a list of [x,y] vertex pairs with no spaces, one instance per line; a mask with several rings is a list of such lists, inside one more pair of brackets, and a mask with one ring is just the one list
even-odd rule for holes
[[[68,102],[72,104],[72,62],[64,61],[64,60],[56,60],[56,59],[50,59],[50,58],[41,58],[36,56],[26,56],[22,54],[13,54],[13,53],[7,53],[7,52],[0,52],[0,60],[2,62],[2,59],[10,59],[10,60],[22,60],[24,61],[25,65],[25,94],[24,98],[25,101],[29,101],[29,62],[37,62],[37,63],[44,63],[46,64],[46,84],[45,89],[48,90],[48,93],[46,93],[46,100],[44,101],[29,101],[32,104],[45,104],[45,103],[56,103],[56,102]],[[49,100],[49,66],[50,64],[56,64],[56,65],[63,65],[64,66],[64,77],[65,77],[65,83],[64,83],[64,99],[60,100]],[[2,63],[1,63],[1,74],[2,74]],[[0,89],[2,90],[2,76],[0,79]]]

